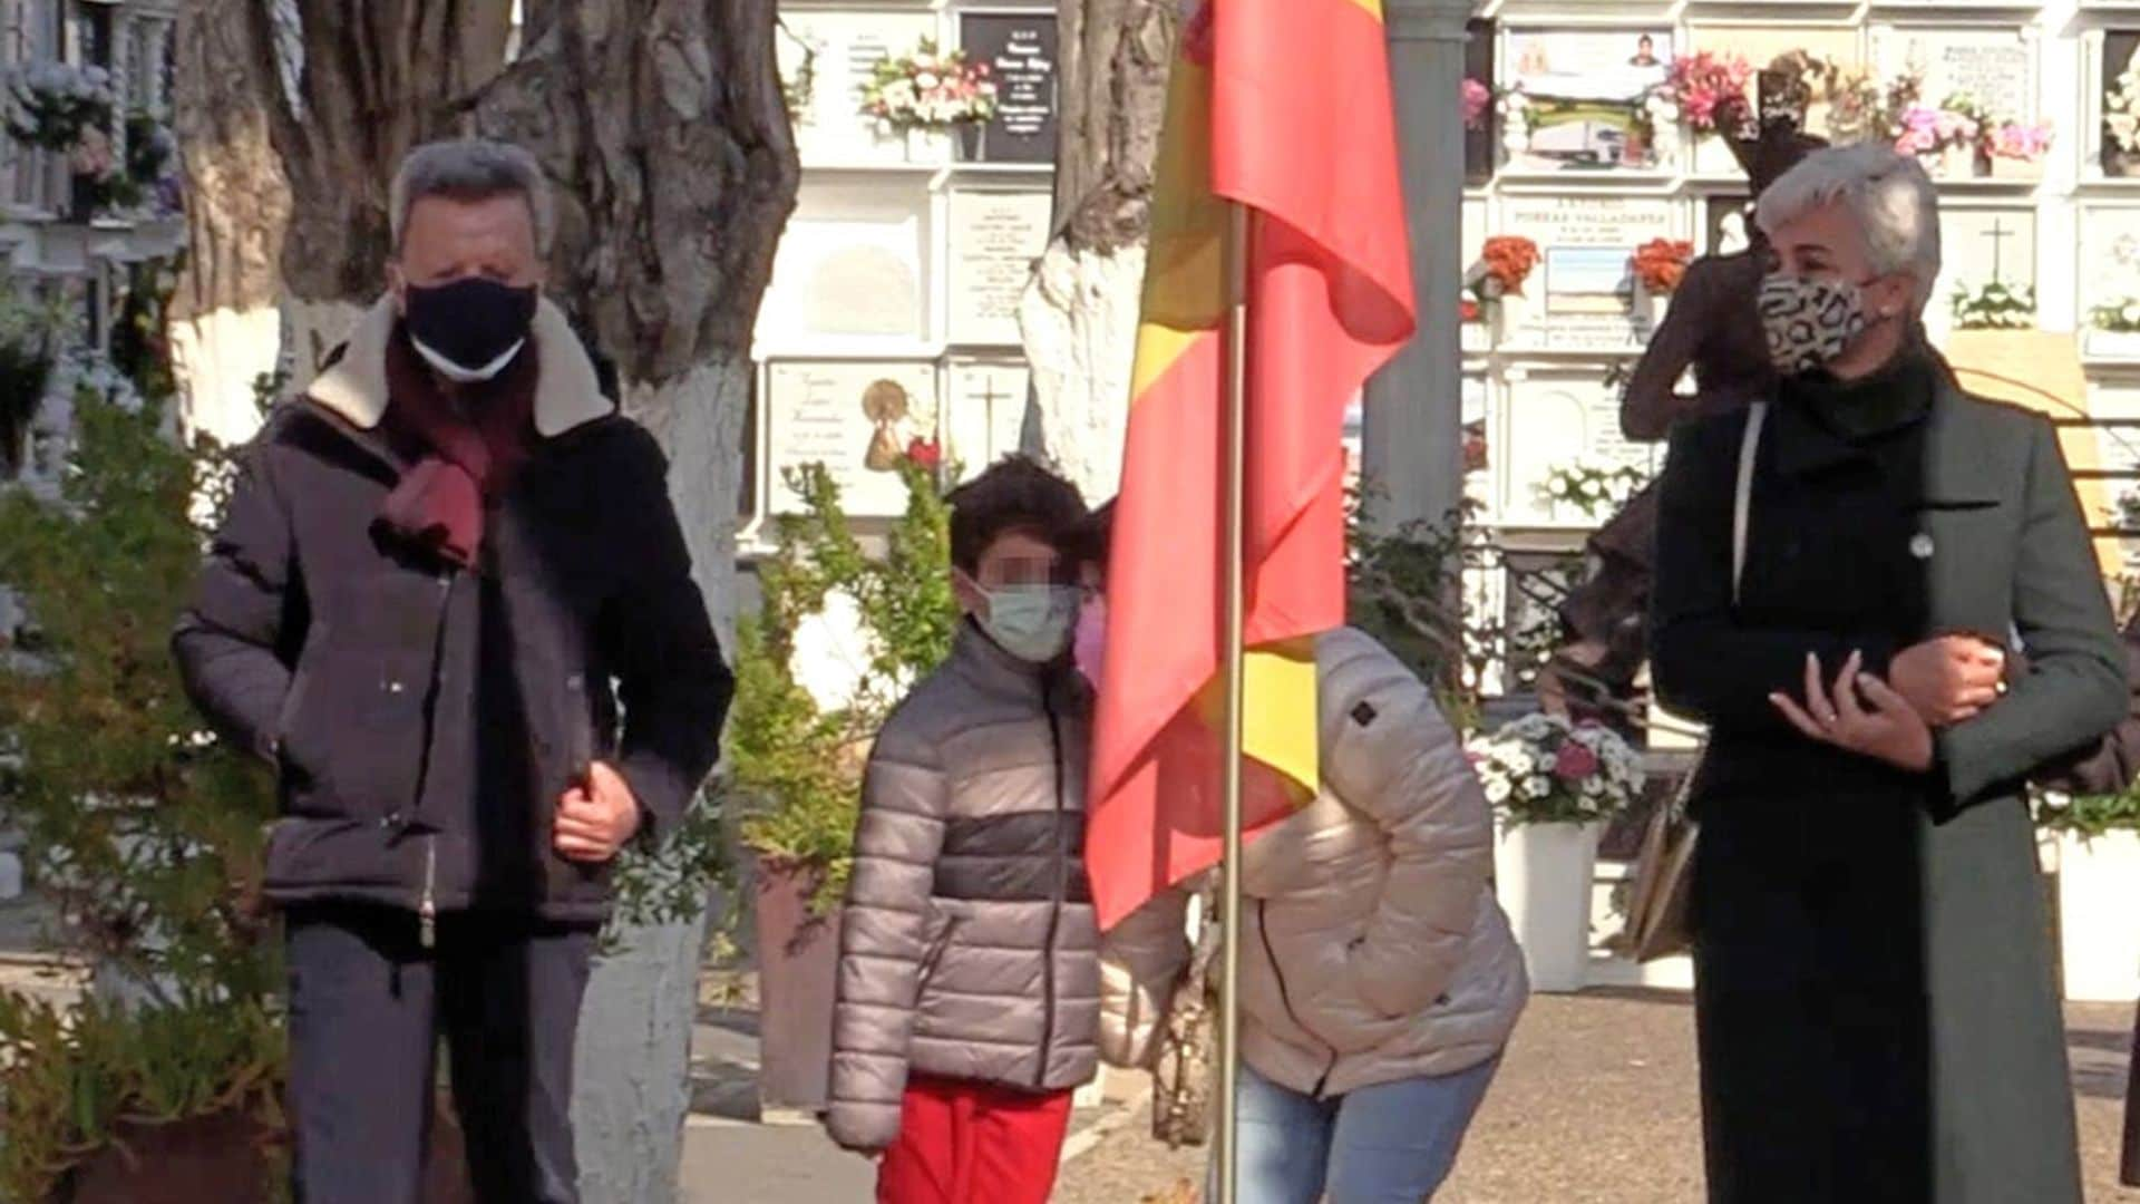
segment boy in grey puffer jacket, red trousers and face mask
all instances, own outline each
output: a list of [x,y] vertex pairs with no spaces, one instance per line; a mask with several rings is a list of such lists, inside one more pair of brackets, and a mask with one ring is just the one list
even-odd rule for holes
[[950,660],[877,733],[841,919],[826,1127],[886,1204],[1044,1204],[1098,1069],[1091,692],[1070,666],[1076,486],[1010,458],[952,495]]

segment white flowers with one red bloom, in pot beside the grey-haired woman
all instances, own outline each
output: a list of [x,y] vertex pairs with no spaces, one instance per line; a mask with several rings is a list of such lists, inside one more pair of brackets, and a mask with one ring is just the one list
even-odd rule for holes
[[1474,739],[1472,771],[1509,825],[1601,823],[1641,795],[1641,758],[1611,728],[1530,713]]

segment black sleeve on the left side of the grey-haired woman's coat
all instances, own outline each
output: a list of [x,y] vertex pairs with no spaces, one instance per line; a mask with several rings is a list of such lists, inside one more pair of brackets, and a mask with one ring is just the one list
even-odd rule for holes
[[[1673,713],[1714,728],[1789,733],[1770,694],[1806,694],[1806,653],[1832,679],[1851,651],[1887,673],[1885,636],[1755,626],[1731,600],[1731,497],[1746,413],[1682,422],[1658,484],[1656,572],[1650,585],[1650,677]],[[1755,497],[1759,508],[1759,488]],[[1761,559],[1746,548],[1746,563]]]

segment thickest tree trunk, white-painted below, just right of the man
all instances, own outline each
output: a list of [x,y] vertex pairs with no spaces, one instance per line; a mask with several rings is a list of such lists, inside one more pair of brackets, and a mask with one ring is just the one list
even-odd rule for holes
[[[552,291],[670,456],[693,576],[734,630],[751,328],[800,184],[775,0],[531,2],[477,126],[559,184]],[[710,885],[708,885],[710,893]],[[676,1200],[706,913],[623,925],[580,1020],[574,1129],[588,1204]]]

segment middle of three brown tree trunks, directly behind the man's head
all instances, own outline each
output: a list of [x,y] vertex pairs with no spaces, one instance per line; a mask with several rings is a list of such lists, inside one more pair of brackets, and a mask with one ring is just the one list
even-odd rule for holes
[[464,133],[464,103],[505,66],[509,0],[246,4],[250,69],[289,178],[282,366],[319,373],[385,289],[387,189],[409,150]]

